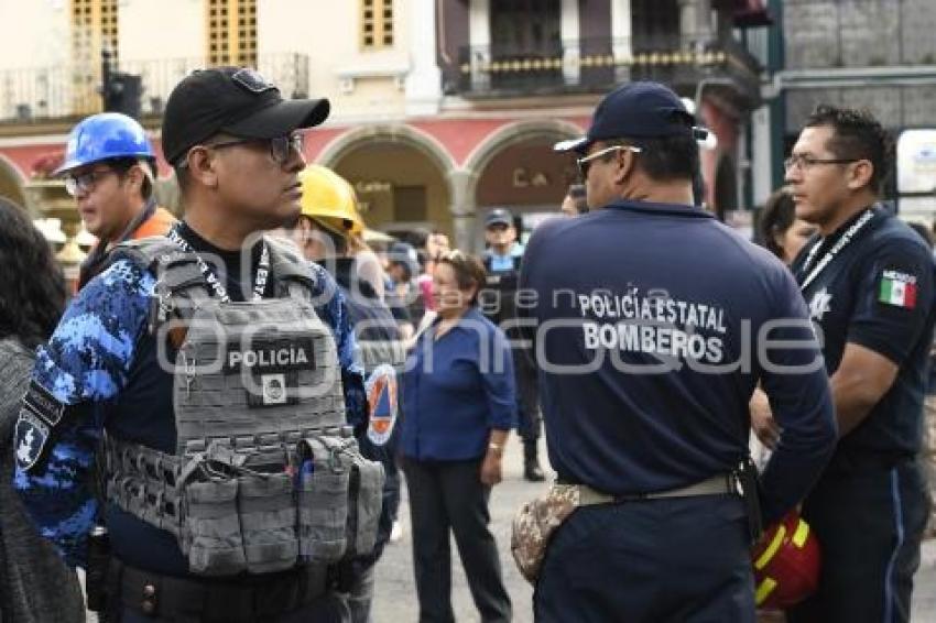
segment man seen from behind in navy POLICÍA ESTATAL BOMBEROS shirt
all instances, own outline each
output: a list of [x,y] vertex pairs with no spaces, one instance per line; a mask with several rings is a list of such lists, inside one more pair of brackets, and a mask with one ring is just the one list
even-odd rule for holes
[[580,501],[549,542],[537,621],[754,621],[759,487],[730,476],[754,387],[783,426],[760,478],[764,521],[806,494],[835,444],[793,277],[692,205],[693,121],[668,88],[632,83],[557,145],[581,156],[591,211],[540,226],[521,287],[535,292],[524,314],[549,460]]

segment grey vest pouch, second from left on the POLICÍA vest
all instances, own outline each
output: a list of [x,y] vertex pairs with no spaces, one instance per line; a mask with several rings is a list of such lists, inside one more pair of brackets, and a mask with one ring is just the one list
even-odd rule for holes
[[290,474],[239,478],[238,512],[248,571],[269,573],[296,564],[296,511]]

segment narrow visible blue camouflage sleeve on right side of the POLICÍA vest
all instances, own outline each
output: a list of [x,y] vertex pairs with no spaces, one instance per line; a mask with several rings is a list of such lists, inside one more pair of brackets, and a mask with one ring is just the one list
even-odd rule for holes
[[367,393],[364,391],[364,371],[355,362],[355,331],[348,319],[345,295],[338,288],[335,277],[314,262],[308,263],[315,278],[313,296],[318,303],[316,314],[323,323],[331,327],[335,346],[338,349],[338,362],[341,365],[341,385],[345,389],[345,408],[348,424],[360,433],[368,424]]

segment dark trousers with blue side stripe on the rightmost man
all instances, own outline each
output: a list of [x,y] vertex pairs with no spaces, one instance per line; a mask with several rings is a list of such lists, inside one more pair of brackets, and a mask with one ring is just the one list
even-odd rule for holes
[[827,470],[803,506],[823,551],[819,590],[790,623],[908,621],[928,502],[919,467]]

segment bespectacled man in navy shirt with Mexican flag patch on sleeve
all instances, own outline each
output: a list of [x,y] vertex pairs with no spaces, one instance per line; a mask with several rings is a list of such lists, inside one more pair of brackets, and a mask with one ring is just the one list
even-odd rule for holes
[[793,264],[825,339],[841,438],[803,516],[818,592],[790,621],[907,621],[927,501],[916,462],[934,321],[926,243],[877,204],[890,139],[867,112],[819,107],[786,161],[796,216],[819,228]]

